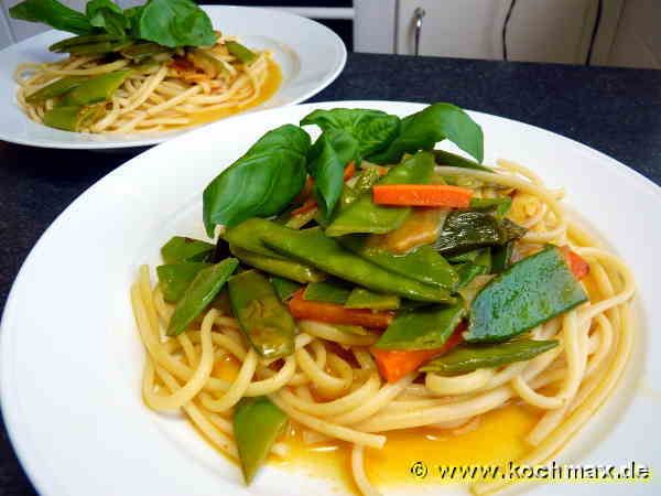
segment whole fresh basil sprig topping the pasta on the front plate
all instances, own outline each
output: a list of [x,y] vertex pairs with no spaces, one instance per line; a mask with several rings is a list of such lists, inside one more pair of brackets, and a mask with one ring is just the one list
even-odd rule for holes
[[[153,0],[152,0],[153,1]],[[308,134],[286,125],[264,134],[204,192],[204,223],[209,236],[217,224],[232,226],[248,217],[269,217],[286,208],[308,173],[327,219],[344,187],[344,168],[365,158],[398,163],[404,153],[431,150],[448,139],[483,160],[483,131],[451,104],[434,104],[404,119],[379,110],[315,110],[301,126],[315,125],[322,134],[310,145]]]

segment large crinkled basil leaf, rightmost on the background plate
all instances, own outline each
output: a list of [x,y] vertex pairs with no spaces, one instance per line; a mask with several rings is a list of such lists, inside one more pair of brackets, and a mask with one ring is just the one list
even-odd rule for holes
[[212,20],[191,0],[149,0],[138,18],[138,37],[171,48],[216,43]]

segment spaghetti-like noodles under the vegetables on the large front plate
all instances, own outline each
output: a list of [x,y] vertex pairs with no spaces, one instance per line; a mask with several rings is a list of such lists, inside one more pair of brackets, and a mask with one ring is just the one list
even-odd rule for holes
[[[152,287],[143,268],[131,295],[148,352],[145,403],[154,410],[183,409],[209,442],[236,459],[231,407],[242,396],[269,395],[293,422],[305,428],[308,442],[334,438],[354,444],[351,470],[366,496],[379,492],[366,475],[364,451],[382,448],[389,431],[433,427],[456,435],[474,429],[483,413],[512,401],[545,411],[528,434],[530,452],[518,462],[550,460],[611,393],[627,364],[633,339],[632,273],[565,213],[559,202],[562,192],[546,188],[523,166],[500,161],[498,173],[449,166],[436,172],[479,182],[485,195],[494,188],[523,195],[519,202],[529,205],[514,205],[511,213],[530,228],[520,241],[521,251],[532,252],[544,242],[568,244],[589,262],[589,302],[532,331],[535,338],[559,339],[560,346],[498,369],[455,377],[429,373],[424,384],[413,382],[409,375],[386,384],[367,352],[376,335],[353,335],[301,321],[295,353],[267,363],[237,333],[236,321],[217,310],[208,311],[199,328],[187,331],[183,338],[162,337],[172,306]],[[340,356],[338,346],[350,349],[356,360]],[[234,381],[214,377],[216,355],[234,356],[241,363]],[[312,389],[325,400],[319,401]],[[485,494],[505,484],[480,482],[473,490]]]

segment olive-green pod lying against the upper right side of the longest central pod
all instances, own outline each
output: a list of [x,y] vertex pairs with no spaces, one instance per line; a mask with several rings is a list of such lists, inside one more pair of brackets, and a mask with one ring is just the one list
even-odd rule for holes
[[365,236],[344,236],[338,241],[359,257],[391,272],[451,291],[457,285],[455,270],[431,246],[421,246],[405,255],[397,255],[370,246]]

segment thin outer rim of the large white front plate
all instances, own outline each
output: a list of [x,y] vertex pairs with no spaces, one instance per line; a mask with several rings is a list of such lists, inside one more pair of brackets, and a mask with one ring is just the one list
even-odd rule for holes
[[[356,107],[357,108],[357,107],[366,106],[366,105],[367,106],[375,106],[375,105],[379,105],[379,106],[395,105],[397,106],[397,105],[426,105],[426,104],[420,103],[420,101],[395,101],[395,100],[325,100],[325,101],[318,101],[318,103],[299,104],[295,107],[299,107],[302,109],[307,108],[307,109],[312,110],[315,108],[324,108],[324,107],[328,107],[328,106],[346,106],[346,107]],[[266,110],[259,111],[259,114],[277,114],[277,112],[281,112],[281,111],[285,110],[288,107],[292,107],[292,106],[266,109]],[[487,118],[497,118],[497,119],[503,120],[510,125],[513,123],[516,126],[528,127],[537,132],[541,131],[542,133],[548,134],[554,139],[560,138],[561,140],[566,141],[572,147],[575,147],[577,150],[593,154],[595,157],[598,157],[599,160],[608,162],[613,166],[613,169],[615,171],[617,171],[618,174],[625,175],[625,176],[630,176],[632,180],[636,181],[635,184],[639,188],[641,188],[641,191],[643,191],[644,193],[647,193],[649,195],[652,195],[653,201],[659,202],[659,204],[661,205],[661,186],[660,185],[655,184],[653,181],[649,180],[648,177],[646,177],[642,173],[638,172],[637,170],[627,166],[622,162],[611,158],[610,155],[608,155],[604,152],[600,152],[599,150],[590,148],[586,144],[583,144],[583,143],[581,143],[576,140],[573,140],[572,138],[568,138],[566,136],[563,136],[561,133],[550,131],[544,128],[541,128],[541,127],[538,127],[534,125],[530,125],[530,123],[527,123],[523,121],[510,119],[507,117],[500,117],[500,116],[496,116],[496,115],[487,114],[487,112],[473,111],[473,110],[467,110],[467,111],[474,116],[486,116]],[[258,112],[253,112],[253,114],[258,114]],[[249,116],[252,116],[252,117],[249,117]],[[236,118],[249,119],[249,118],[253,118],[253,115],[245,114],[245,115],[239,115]],[[204,128],[207,128],[208,126],[224,126],[223,122],[225,122],[225,121],[226,121],[226,119],[224,119],[221,121],[210,122],[209,125],[205,126]],[[160,144],[159,147],[164,147],[164,148],[165,147],[176,147],[178,140],[182,140],[182,141],[188,140],[189,139],[188,134],[194,134],[196,132],[204,132],[204,131],[202,131],[202,128],[194,129],[189,132],[174,137],[172,140],[169,140],[166,142]],[[172,144],[170,144],[170,143],[172,143]],[[111,177],[117,177],[117,176],[126,173],[126,171],[128,171],[129,168],[131,168],[133,165],[134,161],[144,160],[144,158],[142,155],[149,155],[155,149],[156,149],[156,147],[149,149],[149,150],[140,153],[139,155],[136,155],[134,158],[131,158],[130,160],[123,162],[121,165],[113,169],[111,172],[109,172],[108,174],[106,174],[105,176],[102,176],[101,179],[96,181],[95,183],[93,183],[85,191],[83,191],[73,202],[71,202],[66,206],[66,208],[64,208],[64,211],[55,217],[55,219],[48,225],[48,227],[39,237],[39,239],[34,244],[34,246],[30,249],[30,251],[29,251],[28,256],[25,257],[25,259],[23,260],[21,268],[20,268],[19,272],[17,273],[17,277],[14,278],[14,281],[12,282],[11,289],[8,293],[8,298],[7,298],[7,301],[6,301],[3,311],[2,311],[2,315],[0,317],[0,411],[1,411],[2,418],[4,419],[8,438],[11,442],[12,449],[14,450],[15,456],[19,460],[21,467],[25,472],[31,484],[40,494],[59,494],[59,493],[57,493],[57,490],[56,490],[56,487],[57,487],[56,482],[54,484],[52,483],[53,481],[56,481],[56,479],[54,479],[52,477],[52,475],[50,475],[47,473],[47,471],[45,471],[43,465],[41,467],[36,466],[35,460],[42,459],[41,450],[39,450],[39,448],[36,446],[35,443],[31,442],[31,438],[32,438],[31,433],[28,432],[25,429],[21,429],[21,425],[20,425],[21,409],[20,409],[19,400],[10,397],[10,395],[12,392],[10,380],[11,380],[11,376],[13,373],[13,369],[10,367],[10,365],[13,365],[13,363],[11,362],[11,359],[9,359],[10,357],[7,356],[7,354],[8,354],[8,352],[11,351],[11,348],[8,345],[8,342],[13,337],[13,335],[9,331],[9,330],[11,330],[11,327],[8,327],[8,323],[12,320],[12,315],[18,311],[19,292],[25,291],[23,289],[23,287],[26,284],[26,282],[23,282],[23,279],[25,278],[25,272],[28,271],[28,268],[31,265],[35,263],[35,259],[39,256],[40,251],[43,249],[44,244],[47,242],[48,238],[51,236],[53,236],[53,234],[58,229],[59,225],[63,224],[64,222],[66,222],[67,217],[69,217],[71,215],[74,215],[82,206],[84,206],[84,203],[86,202],[88,196],[93,195],[100,185],[102,185],[105,182],[109,181]],[[637,304],[640,305],[640,302],[637,301]],[[630,364],[628,366],[630,366]],[[615,393],[615,391],[614,391],[614,393]],[[608,435],[610,435],[610,432]],[[48,485],[46,485],[46,482],[45,482],[46,479],[50,479],[52,482],[48,483]]]

